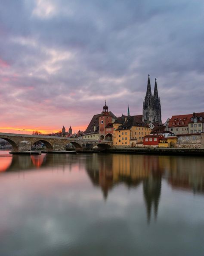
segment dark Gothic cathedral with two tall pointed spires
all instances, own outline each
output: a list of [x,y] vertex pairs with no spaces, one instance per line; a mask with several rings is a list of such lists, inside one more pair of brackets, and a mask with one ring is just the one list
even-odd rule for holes
[[151,94],[151,84],[148,75],[147,92],[144,97],[142,121],[149,125],[151,122],[161,124],[161,103],[158,96],[157,79],[155,78],[154,94]]

